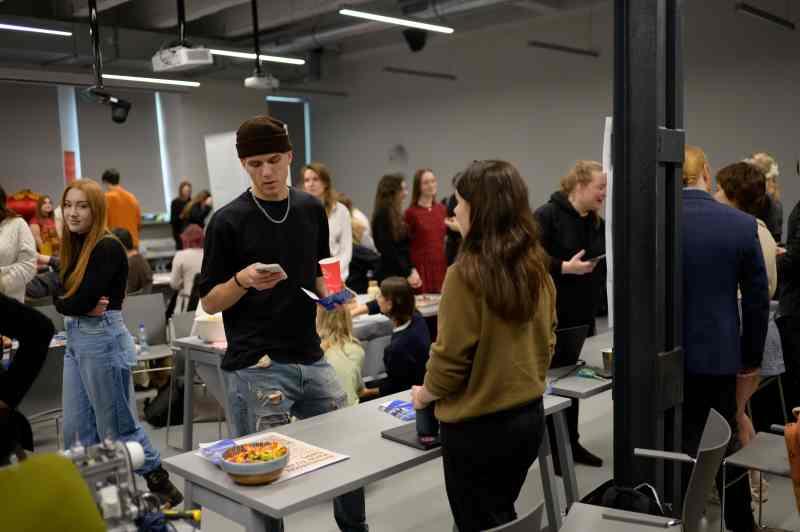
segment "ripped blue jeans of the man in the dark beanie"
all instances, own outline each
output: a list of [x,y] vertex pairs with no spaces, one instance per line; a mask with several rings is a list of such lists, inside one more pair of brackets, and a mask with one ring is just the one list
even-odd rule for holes
[[[244,436],[347,406],[347,395],[336,372],[324,358],[314,364],[278,364],[226,372],[231,426]],[[333,515],[344,532],[367,532],[364,490],[333,500]],[[271,530],[283,530],[283,521],[271,520]]]

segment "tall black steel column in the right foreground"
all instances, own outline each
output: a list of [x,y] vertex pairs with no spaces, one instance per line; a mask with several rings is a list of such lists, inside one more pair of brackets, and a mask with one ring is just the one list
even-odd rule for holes
[[615,0],[614,477],[654,483],[680,511],[683,0]]

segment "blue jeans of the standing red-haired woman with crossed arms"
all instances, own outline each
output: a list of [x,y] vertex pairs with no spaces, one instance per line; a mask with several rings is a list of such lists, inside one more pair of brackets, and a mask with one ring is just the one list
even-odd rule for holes
[[133,337],[120,311],[100,317],[67,316],[64,355],[64,446],[78,438],[84,446],[106,436],[135,441],[144,448],[145,475],[161,465],[161,457],[139,424],[131,369],[136,365]]

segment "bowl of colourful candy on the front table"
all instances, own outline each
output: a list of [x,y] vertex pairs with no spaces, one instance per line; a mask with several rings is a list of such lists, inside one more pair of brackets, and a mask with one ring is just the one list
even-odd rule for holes
[[237,484],[260,486],[276,481],[289,463],[289,448],[277,441],[261,441],[231,447],[220,467]]

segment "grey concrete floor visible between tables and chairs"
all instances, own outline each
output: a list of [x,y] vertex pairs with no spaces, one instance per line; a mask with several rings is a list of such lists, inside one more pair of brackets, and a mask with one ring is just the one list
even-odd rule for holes
[[[590,364],[599,363],[589,361]],[[198,409],[196,416],[213,419],[216,408],[213,400],[203,398],[198,390]],[[577,466],[578,486],[581,494],[586,494],[596,486],[610,479],[613,470],[613,412],[611,392],[605,392],[581,403],[580,412],[581,442],[592,452],[603,458],[602,468]],[[177,451],[166,445],[166,430],[146,425],[151,441],[163,456],[173,456]],[[223,424],[224,427],[224,424]],[[55,430],[52,426],[38,425],[36,438],[38,449],[52,451],[56,448]],[[181,440],[181,427],[170,430],[173,444]],[[218,439],[215,422],[196,422],[195,434],[200,441]],[[223,429],[223,436],[225,432]],[[178,488],[182,480],[174,478]],[[563,493],[562,493],[563,498]],[[524,512],[543,500],[539,480],[538,463],[534,464],[528,480],[517,501],[517,511]],[[563,499],[562,499],[563,500]],[[719,529],[719,507],[709,505],[708,516],[715,523],[710,529]],[[441,460],[428,462],[422,466],[405,471],[367,487],[367,518],[370,529],[375,532],[441,532],[452,527],[450,508],[444,490]],[[203,516],[203,530],[214,532],[236,532],[241,528],[206,512]],[[791,483],[788,479],[770,480],[769,501],[764,505],[764,524],[785,530],[800,531],[800,518],[794,503]],[[181,531],[192,530],[187,525],[179,525]],[[335,532],[332,508],[329,503],[320,504],[290,516],[286,520],[287,531],[297,532]]]

